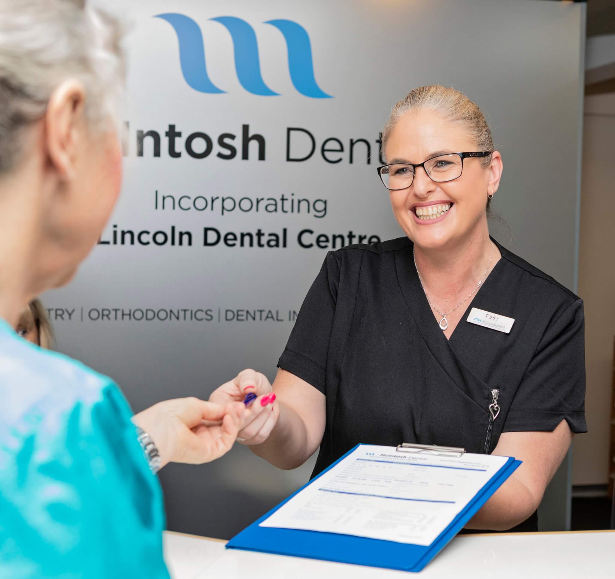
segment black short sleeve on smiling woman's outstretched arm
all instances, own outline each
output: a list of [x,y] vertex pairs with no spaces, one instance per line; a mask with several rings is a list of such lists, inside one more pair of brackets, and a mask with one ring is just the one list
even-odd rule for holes
[[325,393],[327,352],[339,286],[339,264],[329,252],[309,288],[277,365]]

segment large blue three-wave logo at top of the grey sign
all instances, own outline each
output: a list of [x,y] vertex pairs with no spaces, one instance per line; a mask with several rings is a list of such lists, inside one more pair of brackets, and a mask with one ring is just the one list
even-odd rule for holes
[[[209,94],[226,92],[216,87],[207,74],[205,46],[199,25],[188,16],[172,12],[158,14],[154,18],[166,20],[175,29],[180,44],[181,73],[188,85],[194,90]],[[252,26],[233,16],[220,16],[210,20],[220,23],[231,34],[235,50],[235,69],[242,87],[261,97],[279,95],[269,89],[261,76],[258,43]],[[310,98],[333,98],[316,84],[312,46],[305,28],[292,20],[268,20],[264,24],[274,26],[284,36],[288,50],[288,71],[295,89]]]

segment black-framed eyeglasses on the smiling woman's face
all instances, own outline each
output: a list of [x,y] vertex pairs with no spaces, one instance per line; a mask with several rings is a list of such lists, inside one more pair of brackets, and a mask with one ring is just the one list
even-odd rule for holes
[[427,176],[435,183],[446,183],[461,177],[463,160],[474,157],[487,157],[493,151],[470,151],[464,153],[447,153],[431,157],[413,165],[413,163],[392,163],[378,167],[378,175],[389,191],[399,191],[410,187],[415,180],[418,167],[423,167]]

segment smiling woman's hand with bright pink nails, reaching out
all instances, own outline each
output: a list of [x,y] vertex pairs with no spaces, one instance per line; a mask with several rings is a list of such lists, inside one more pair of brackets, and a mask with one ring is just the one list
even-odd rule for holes
[[228,404],[243,402],[245,395],[249,393],[258,397],[246,408],[244,425],[237,435],[237,441],[245,446],[264,443],[280,416],[280,405],[276,403],[276,395],[272,392],[267,377],[252,369],[244,370],[234,379],[216,388],[209,397],[210,402]]

